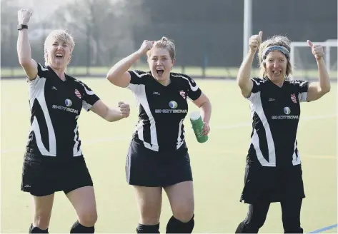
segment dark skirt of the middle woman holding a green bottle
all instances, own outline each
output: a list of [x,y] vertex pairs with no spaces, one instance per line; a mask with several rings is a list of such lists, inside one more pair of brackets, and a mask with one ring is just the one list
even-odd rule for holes
[[166,187],[192,181],[192,168],[186,144],[173,153],[159,153],[132,140],[126,156],[129,185]]

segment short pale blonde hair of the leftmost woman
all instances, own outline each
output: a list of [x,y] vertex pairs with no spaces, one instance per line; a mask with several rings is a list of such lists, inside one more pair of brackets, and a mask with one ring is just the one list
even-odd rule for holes
[[[73,51],[75,46],[74,38],[68,31],[64,29],[56,29],[51,31],[51,33],[46,37],[46,40],[44,41],[44,63],[46,66],[49,65],[47,48],[49,47],[49,43],[51,42],[51,40],[62,41],[62,43],[68,44],[71,52]],[[69,57],[69,61],[67,64],[69,64],[70,61],[71,56]]]

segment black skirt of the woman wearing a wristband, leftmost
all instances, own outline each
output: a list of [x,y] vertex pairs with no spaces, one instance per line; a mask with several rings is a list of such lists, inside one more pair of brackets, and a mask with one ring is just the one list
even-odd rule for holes
[[58,191],[69,193],[76,188],[93,186],[84,157],[74,157],[62,162],[56,162],[55,158],[45,159],[34,158],[26,153],[21,190],[31,195],[44,196]]

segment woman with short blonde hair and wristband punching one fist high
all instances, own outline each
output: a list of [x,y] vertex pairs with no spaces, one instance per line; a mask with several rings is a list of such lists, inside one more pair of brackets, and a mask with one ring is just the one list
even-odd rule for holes
[[31,11],[18,11],[19,63],[29,86],[31,129],[24,155],[21,190],[34,198],[29,233],[48,233],[54,193],[63,191],[78,220],[71,233],[94,233],[97,219],[91,175],[81,151],[77,120],[81,108],[106,121],[129,116],[129,105],[109,108],[85,83],[65,73],[74,39],[64,30],[51,31],[44,44],[45,66],[31,59],[28,22]]

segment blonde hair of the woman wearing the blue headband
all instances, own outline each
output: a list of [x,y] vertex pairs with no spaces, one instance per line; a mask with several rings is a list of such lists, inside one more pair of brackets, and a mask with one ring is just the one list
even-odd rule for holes
[[[259,74],[262,78],[267,77],[267,74],[265,73],[266,67],[265,67],[265,58],[263,58],[263,51],[267,49],[267,47],[269,46],[284,46],[287,49],[287,51],[289,51],[290,53],[291,51],[290,44],[291,44],[291,41],[286,36],[274,35],[270,37],[269,39],[267,39],[266,41],[264,41],[259,46],[257,56],[258,56],[259,68],[260,68]],[[292,64],[291,64],[289,56],[286,56],[286,57],[287,57],[287,72],[286,72],[286,77],[287,77],[292,74]]]

